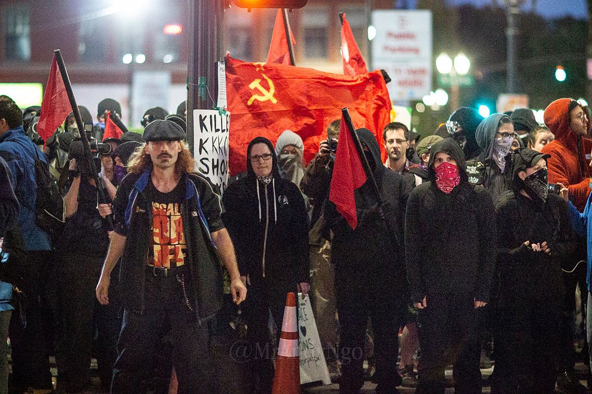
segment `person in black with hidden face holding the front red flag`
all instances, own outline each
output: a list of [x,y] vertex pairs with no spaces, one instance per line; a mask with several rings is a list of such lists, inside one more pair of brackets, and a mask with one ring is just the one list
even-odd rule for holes
[[[356,130],[381,193],[378,200],[368,180],[355,190],[358,225],[352,230],[329,200],[324,215],[331,230],[331,262],[339,314],[342,377],[340,393],[358,393],[363,386],[363,349],[368,318],[374,332],[377,393],[397,393],[398,330],[406,308],[403,224],[409,183],[382,165],[380,148],[371,131]],[[339,149],[339,146],[337,146]]]

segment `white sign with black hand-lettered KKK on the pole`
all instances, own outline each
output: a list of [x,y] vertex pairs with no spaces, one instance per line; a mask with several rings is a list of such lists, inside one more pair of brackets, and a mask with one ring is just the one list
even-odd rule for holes
[[193,156],[197,170],[223,193],[228,180],[230,112],[194,109],[193,119]]

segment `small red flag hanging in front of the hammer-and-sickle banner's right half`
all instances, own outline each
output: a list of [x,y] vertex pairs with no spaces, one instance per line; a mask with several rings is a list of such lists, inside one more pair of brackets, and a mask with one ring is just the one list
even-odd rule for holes
[[353,190],[358,189],[364,182],[366,182],[366,173],[362,167],[362,160],[342,116],[329,200],[337,206],[337,212],[342,214],[353,230],[358,225]]

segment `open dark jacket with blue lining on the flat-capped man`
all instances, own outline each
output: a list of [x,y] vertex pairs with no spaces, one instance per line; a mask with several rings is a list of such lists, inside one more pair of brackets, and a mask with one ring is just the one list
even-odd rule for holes
[[[149,195],[151,169],[141,175],[128,174],[115,201],[113,212],[115,231],[127,237],[121,258],[120,291],[123,305],[143,313],[146,259],[152,237],[152,199]],[[185,202],[181,206],[186,244],[189,279],[197,318],[208,319],[220,309],[223,283],[220,259],[211,233],[224,228],[220,196],[211,183],[197,174],[185,173],[179,182],[185,183]]]

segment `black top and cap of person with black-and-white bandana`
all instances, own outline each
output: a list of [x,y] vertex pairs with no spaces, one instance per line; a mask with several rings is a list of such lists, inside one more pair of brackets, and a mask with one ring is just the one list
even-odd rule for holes
[[[543,154],[526,148],[517,149],[512,155],[512,190],[504,193],[496,206],[497,271],[505,290],[523,292],[527,286],[529,292],[525,297],[552,295],[558,298],[562,295],[561,261],[575,248],[570,211],[567,203],[555,193],[549,192],[544,203],[520,194],[525,184],[518,176],[543,157]],[[546,241],[551,254],[522,247],[525,241]],[[501,298],[507,301],[507,296]]]

